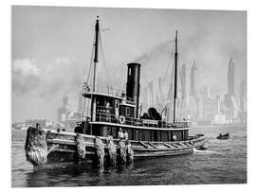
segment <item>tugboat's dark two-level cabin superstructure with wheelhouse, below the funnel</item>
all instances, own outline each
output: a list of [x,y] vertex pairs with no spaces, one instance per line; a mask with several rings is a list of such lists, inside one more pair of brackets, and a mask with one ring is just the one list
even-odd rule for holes
[[189,123],[167,123],[162,120],[136,118],[137,106],[127,102],[126,96],[111,96],[87,91],[86,98],[96,100],[95,120],[90,120],[86,133],[98,136],[112,135],[118,138],[118,132],[128,132],[129,140],[137,141],[184,141],[188,139]]

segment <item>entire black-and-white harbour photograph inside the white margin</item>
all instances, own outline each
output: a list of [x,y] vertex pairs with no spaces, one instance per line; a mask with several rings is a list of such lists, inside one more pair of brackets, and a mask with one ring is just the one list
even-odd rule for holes
[[11,187],[247,183],[247,10],[10,12]]

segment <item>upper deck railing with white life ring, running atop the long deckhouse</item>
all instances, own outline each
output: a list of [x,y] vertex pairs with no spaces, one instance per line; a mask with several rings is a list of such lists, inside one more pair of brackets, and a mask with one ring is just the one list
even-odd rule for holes
[[[133,117],[123,116],[123,119],[120,119],[119,115],[111,114],[111,113],[96,113],[96,121],[97,122],[107,122],[107,123],[115,123],[115,124],[123,124],[130,126],[138,126],[138,127],[147,127],[147,128],[189,128],[189,122],[187,121],[179,121],[175,123],[167,123],[166,121],[158,121],[151,119],[139,119]],[[121,117],[122,118],[122,117]]]

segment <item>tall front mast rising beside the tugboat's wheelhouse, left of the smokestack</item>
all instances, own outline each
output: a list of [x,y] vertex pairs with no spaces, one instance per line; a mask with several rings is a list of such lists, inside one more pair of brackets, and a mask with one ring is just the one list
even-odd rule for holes
[[[93,68],[93,92],[96,92],[96,68],[98,62],[98,43],[99,43],[99,16],[97,16],[96,25],[95,25],[95,44],[94,44],[94,68]],[[92,121],[96,120],[96,97],[92,96],[91,102],[91,118]]]

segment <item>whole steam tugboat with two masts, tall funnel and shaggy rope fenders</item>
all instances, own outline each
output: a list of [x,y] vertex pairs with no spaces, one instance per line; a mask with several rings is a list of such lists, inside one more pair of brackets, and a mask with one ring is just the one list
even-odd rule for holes
[[192,153],[203,147],[203,134],[189,136],[190,122],[176,117],[177,102],[177,31],[174,53],[174,116],[168,122],[150,108],[139,115],[139,63],[127,64],[126,92],[118,94],[97,91],[97,64],[100,36],[99,18],[96,20],[93,47],[93,82],[83,86],[84,99],[89,100],[89,114],[82,114],[74,132],[27,130],[26,156],[34,167],[81,164],[93,162],[98,166],[129,164],[140,158],[174,156]]

